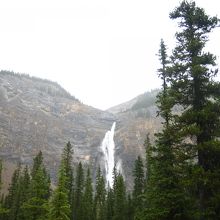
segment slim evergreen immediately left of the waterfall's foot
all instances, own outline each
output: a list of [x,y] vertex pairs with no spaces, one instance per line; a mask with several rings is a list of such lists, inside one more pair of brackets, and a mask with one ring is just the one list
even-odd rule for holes
[[95,220],[105,219],[105,201],[106,200],[106,190],[105,190],[105,180],[102,176],[100,167],[96,173],[96,192],[94,198],[94,216]]

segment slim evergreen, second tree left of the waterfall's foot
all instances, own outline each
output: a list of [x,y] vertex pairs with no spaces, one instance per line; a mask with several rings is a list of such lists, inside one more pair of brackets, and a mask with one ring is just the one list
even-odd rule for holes
[[93,220],[93,188],[90,169],[87,169],[85,189],[83,192],[83,220]]

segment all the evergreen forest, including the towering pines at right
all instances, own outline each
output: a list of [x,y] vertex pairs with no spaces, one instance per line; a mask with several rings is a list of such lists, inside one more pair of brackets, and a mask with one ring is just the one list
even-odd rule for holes
[[8,194],[1,197],[0,219],[220,219],[220,83],[214,80],[216,57],[205,50],[219,19],[188,1],[170,18],[179,30],[171,55],[165,42],[160,43],[162,89],[157,107],[162,130],[154,143],[147,135],[146,154],[134,163],[133,190],[126,189],[116,168],[112,188],[106,186],[101,168],[93,183],[89,166],[73,167],[68,142],[56,186],[51,185],[41,152],[31,168],[18,165]]

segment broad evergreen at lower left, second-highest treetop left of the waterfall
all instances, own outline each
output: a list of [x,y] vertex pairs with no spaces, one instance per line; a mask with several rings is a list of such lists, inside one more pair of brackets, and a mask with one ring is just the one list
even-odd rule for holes
[[23,204],[24,219],[43,220],[48,217],[48,199],[50,196],[50,182],[45,166],[43,155],[40,151],[34,158],[31,171],[29,199]]

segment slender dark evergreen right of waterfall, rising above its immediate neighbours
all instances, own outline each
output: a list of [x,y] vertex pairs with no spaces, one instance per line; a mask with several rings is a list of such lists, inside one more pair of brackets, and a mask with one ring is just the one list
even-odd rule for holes
[[134,170],[134,189],[133,189],[133,205],[135,209],[135,215],[138,215],[143,209],[142,194],[144,190],[144,165],[140,156],[135,160]]

